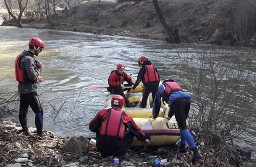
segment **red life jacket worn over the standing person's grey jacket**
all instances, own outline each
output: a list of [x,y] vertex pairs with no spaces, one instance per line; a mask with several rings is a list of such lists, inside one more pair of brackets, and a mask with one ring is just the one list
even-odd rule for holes
[[[28,74],[26,74],[26,72],[24,72],[23,70],[21,70],[19,64],[21,62],[21,58],[24,56],[18,55],[15,59],[15,77],[16,77],[16,81],[18,82],[22,82],[22,83],[33,83],[33,82],[37,82],[38,81],[38,76],[36,77],[35,81],[31,81],[28,78]],[[36,63],[36,69],[38,69],[38,64]],[[26,75],[26,76],[25,76]]]

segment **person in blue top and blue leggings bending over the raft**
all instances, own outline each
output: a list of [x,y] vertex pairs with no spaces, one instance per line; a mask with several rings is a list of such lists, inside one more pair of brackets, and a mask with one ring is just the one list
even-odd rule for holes
[[190,134],[188,127],[186,126],[186,119],[188,118],[191,105],[191,96],[188,93],[185,93],[174,79],[164,80],[163,84],[159,86],[156,93],[156,99],[153,102],[153,113],[151,115],[152,118],[157,118],[159,114],[161,97],[163,97],[163,100],[170,107],[166,119],[170,120],[171,117],[175,115],[175,119],[177,120],[181,134],[179,151],[182,153],[187,152],[185,148],[185,144],[187,142],[193,151],[191,162],[196,162],[201,158],[201,155],[196,148],[195,141]]

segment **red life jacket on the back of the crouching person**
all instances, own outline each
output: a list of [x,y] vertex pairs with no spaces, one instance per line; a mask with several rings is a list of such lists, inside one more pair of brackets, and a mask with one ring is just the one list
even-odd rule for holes
[[124,137],[125,126],[122,122],[125,111],[118,111],[112,108],[109,109],[107,119],[102,122],[102,128],[100,130],[101,136],[111,137]]

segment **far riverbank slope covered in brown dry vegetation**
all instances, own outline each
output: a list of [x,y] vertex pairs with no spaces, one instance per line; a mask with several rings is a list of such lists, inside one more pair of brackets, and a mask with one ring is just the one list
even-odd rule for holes
[[[166,40],[152,3],[87,1],[78,7],[46,19],[22,22],[24,27],[81,31]],[[241,1],[159,1],[169,26],[179,30],[183,42],[228,45],[256,45],[256,2]],[[12,25],[4,22],[3,25]]]

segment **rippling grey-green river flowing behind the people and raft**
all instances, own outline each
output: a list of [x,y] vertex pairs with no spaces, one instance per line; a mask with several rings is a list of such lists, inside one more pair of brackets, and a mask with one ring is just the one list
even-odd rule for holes
[[[44,109],[44,129],[52,130],[57,136],[81,134],[93,135],[88,129],[89,121],[103,108],[106,90],[88,90],[87,86],[107,86],[107,78],[117,63],[124,63],[128,74],[137,74],[138,57],[147,55],[159,70],[160,78],[179,78],[180,65],[177,52],[191,55],[195,62],[197,49],[191,44],[178,45],[178,48],[156,40],[145,40],[121,36],[94,35],[72,31],[30,29],[17,27],[0,27],[0,90],[15,91],[17,82],[14,75],[14,59],[28,48],[31,37],[39,37],[45,41],[46,48],[37,57],[45,64],[42,73],[44,81],[40,84],[40,101]],[[197,46],[198,47],[198,46]],[[196,48],[197,48],[196,47]],[[202,50],[211,45],[199,46]],[[245,50],[239,47],[223,47],[223,51],[231,54]],[[248,48],[256,62],[256,49]],[[243,56],[243,55],[241,55]],[[199,68],[195,63],[195,68]],[[256,68],[249,70],[255,75]],[[185,78],[179,78],[184,81]],[[256,91],[255,84],[250,88]],[[56,120],[54,116],[67,100]],[[249,110],[255,111],[255,97],[248,102]],[[56,108],[54,111],[50,104]],[[18,104],[18,103],[17,103]],[[12,104],[11,107],[18,107]],[[11,118],[18,120],[18,114]],[[252,114],[256,118],[256,114]],[[10,118],[9,118],[10,119]],[[34,114],[29,112],[29,126],[34,125]],[[245,133],[237,139],[243,145],[256,145],[256,123],[254,122]]]

